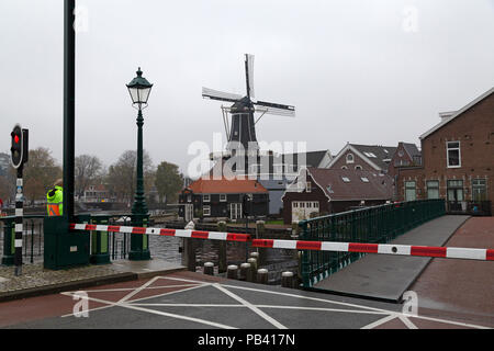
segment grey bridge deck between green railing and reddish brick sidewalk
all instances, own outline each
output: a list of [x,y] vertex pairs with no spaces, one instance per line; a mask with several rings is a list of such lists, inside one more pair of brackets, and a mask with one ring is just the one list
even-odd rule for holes
[[[442,216],[412,229],[392,244],[444,246],[469,216]],[[398,302],[431,258],[367,254],[313,286],[356,297]]]

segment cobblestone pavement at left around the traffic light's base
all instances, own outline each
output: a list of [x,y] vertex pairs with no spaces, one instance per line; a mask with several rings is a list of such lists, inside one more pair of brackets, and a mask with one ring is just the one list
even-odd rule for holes
[[14,267],[0,265],[0,294],[60,283],[108,276],[121,273],[108,265],[88,265],[68,270],[45,270],[43,264],[24,264],[22,275],[14,275]]

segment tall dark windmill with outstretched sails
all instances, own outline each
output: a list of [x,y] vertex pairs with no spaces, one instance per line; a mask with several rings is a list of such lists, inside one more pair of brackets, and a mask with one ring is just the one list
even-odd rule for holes
[[[223,106],[223,123],[225,125],[226,138],[228,140],[226,150],[232,152],[239,146],[248,151],[259,149],[256,138],[256,124],[265,114],[274,114],[283,116],[294,116],[295,107],[280,103],[266,101],[254,101],[254,55],[245,54],[245,80],[247,94],[223,92],[209,88],[202,88],[202,97],[204,99],[231,102],[233,105]],[[261,115],[255,121],[254,114],[258,112]],[[232,115],[229,124],[228,113]]]

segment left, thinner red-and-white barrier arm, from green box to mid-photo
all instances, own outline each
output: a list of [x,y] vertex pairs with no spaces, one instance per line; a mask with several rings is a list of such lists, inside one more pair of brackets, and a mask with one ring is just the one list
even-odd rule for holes
[[198,238],[198,239],[213,239],[226,241],[250,241],[249,234],[236,234],[226,231],[203,231],[190,229],[168,229],[168,228],[145,228],[145,227],[127,227],[127,226],[110,226],[96,224],[70,224],[71,230],[99,230],[113,233],[130,233],[130,234],[148,234],[160,235],[168,237],[181,238]]

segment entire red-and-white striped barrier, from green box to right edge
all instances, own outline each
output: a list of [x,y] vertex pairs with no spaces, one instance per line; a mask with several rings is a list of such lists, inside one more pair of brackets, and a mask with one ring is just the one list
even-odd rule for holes
[[203,231],[190,229],[110,226],[96,224],[70,224],[69,228],[71,230],[100,230],[113,233],[160,235],[181,238],[242,241],[242,242],[251,242],[252,247],[255,248],[384,253],[398,256],[420,256],[420,257],[438,257],[447,259],[494,261],[494,249],[467,249],[467,248],[447,248],[447,247],[430,247],[430,246],[393,245],[393,244],[251,239],[249,234],[237,234],[226,231]]

